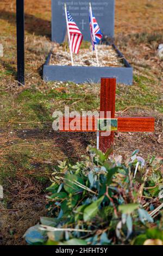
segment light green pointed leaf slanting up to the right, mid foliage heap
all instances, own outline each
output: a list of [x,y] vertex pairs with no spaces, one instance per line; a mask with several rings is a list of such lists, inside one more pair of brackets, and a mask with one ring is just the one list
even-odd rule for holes
[[101,198],[99,198],[98,200],[96,200],[95,202],[93,202],[92,204],[90,204],[85,208],[84,216],[83,216],[84,221],[89,221],[91,220],[91,218],[96,216],[99,205],[101,205],[103,199],[104,199],[104,196],[102,196]]

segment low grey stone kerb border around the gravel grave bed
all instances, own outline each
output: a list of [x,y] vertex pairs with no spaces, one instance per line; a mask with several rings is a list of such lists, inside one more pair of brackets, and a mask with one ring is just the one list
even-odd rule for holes
[[[109,45],[109,44],[108,44]],[[94,82],[99,83],[101,77],[115,77],[117,83],[132,85],[133,68],[118,50],[115,44],[112,47],[123,60],[124,67],[95,67],[95,66],[60,66],[50,65],[52,52],[49,52],[43,66],[43,80],[45,81],[70,81],[74,83]]]

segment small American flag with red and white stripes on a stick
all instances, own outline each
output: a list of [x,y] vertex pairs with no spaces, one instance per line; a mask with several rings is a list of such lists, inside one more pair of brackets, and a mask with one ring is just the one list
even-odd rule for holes
[[68,29],[70,32],[72,52],[78,53],[80,49],[80,45],[82,44],[83,34],[80,32],[78,26],[72,19],[72,16],[69,13],[69,11],[67,11],[67,18],[68,18]]

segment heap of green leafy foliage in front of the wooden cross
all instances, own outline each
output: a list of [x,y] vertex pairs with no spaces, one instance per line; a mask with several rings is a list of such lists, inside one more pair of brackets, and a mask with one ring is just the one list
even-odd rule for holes
[[[125,163],[111,155],[112,149],[103,154],[89,147],[87,153],[74,165],[59,162],[47,188],[49,216],[27,230],[27,243],[136,245],[154,237],[163,241],[161,162],[146,162],[137,156],[139,150]],[[153,235],[155,229],[159,236]]]

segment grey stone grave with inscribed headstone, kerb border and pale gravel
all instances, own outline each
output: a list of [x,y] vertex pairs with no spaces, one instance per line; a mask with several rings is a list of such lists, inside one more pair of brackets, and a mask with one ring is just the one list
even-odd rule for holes
[[[65,41],[66,22],[64,12],[65,1],[52,0],[52,41],[59,44]],[[91,41],[89,25],[89,1],[71,1],[67,3],[74,20],[84,36],[84,40]],[[114,38],[115,1],[91,2],[94,15],[97,17],[103,35]],[[72,81],[83,83],[87,81],[99,82],[100,77],[115,77],[117,83],[131,85],[133,83],[133,68],[118,50],[116,45],[98,45],[99,66],[96,54],[90,48],[81,48],[74,56],[74,66],[71,65],[70,51],[55,45],[49,53],[43,66],[45,81]]]

